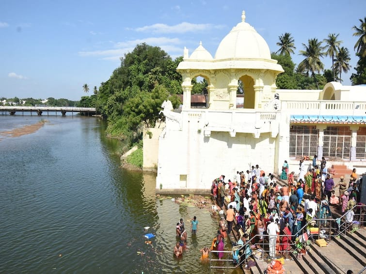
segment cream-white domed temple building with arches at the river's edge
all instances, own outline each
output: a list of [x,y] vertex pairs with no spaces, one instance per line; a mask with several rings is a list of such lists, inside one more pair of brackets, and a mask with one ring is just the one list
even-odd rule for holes
[[[299,158],[314,154],[366,170],[366,87],[330,82],[323,90],[277,90],[283,69],[244,12],[214,58],[202,43],[190,56],[185,48],[177,71],[182,111],[165,102],[158,147],[145,150],[144,142],[144,155],[157,153],[157,192],[207,192],[215,177],[233,179],[256,164],[280,173],[287,160],[290,171],[298,170]],[[208,82],[207,108],[191,108],[197,76]],[[236,107],[239,80],[243,108]]]

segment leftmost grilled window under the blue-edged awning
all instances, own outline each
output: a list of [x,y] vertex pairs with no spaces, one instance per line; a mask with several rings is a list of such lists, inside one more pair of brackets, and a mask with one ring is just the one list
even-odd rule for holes
[[290,127],[290,156],[311,156],[318,151],[318,129],[315,126]]

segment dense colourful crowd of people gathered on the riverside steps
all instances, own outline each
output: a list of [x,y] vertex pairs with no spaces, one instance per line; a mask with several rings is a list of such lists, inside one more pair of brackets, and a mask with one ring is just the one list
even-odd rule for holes
[[[343,177],[334,183],[324,157],[318,165],[315,155],[307,172],[304,160],[300,160],[297,180],[295,171],[289,173],[288,169],[285,161],[280,179],[287,184],[281,183],[282,186],[259,165],[246,172],[237,171],[227,182],[224,175],[213,180],[211,195],[220,207],[225,207],[226,218],[219,222],[218,235],[211,249],[223,250],[223,240],[233,226],[237,226],[243,239],[251,240],[255,246],[264,241],[264,234],[268,234],[269,255],[274,258],[276,253],[288,251],[290,242],[295,240],[291,235],[300,235],[303,231],[310,234],[310,221],[314,217],[331,216],[331,206],[339,206],[345,213],[357,204],[362,180],[358,180],[355,169],[348,185]],[[339,187],[339,196],[335,195],[336,187]],[[348,214],[351,222],[353,215]],[[218,254],[221,259],[222,253]]]

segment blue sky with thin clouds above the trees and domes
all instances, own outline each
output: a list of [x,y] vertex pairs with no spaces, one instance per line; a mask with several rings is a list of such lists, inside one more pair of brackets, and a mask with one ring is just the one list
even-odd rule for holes
[[[339,33],[350,50],[350,73],[358,61],[352,27],[366,16],[365,0],[1,0],[0,97],[79,100],[87,83],[109,79],[119,58],[136,44],[160,46],[175,58],[202,41],[215,55],[223,37],[241,20],[277,51],[278,36],[295,39],[295,63],[309,38]],[[331,59],[323,59],[331,68]]]

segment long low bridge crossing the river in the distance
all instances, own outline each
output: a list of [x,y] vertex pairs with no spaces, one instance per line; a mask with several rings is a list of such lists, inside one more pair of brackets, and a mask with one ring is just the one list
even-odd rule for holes
[[57,112],[60,112],[62,116],[66,116],[66,112],[71,112],[71,115],[74,115],[74,112],[82,112],[89,115],[93,115],[96,113],[95,107],[24,107],[24,106],[0,106],[0,111],[2,115],[6,115],[9,113],[10,115],[15,115],[16,112],[21,112],[24,115],[24,112],[30,112],[31,115],[34,112],[38,116],[47,112],[54,113],[57,116]]

